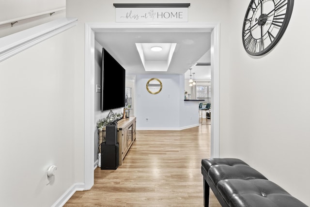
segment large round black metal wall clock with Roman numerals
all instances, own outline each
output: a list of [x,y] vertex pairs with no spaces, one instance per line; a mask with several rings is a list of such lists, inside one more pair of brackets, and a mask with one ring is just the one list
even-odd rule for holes
[[293,12],[294,0],[251,0],[243,21],[243,46],[263,55],[277,45]]

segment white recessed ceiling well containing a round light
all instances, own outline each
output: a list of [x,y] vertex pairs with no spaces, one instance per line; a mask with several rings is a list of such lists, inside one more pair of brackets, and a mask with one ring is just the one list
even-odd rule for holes
[[136,47],[145,71],[162,72],[168,71],[176,43],[136,43]]

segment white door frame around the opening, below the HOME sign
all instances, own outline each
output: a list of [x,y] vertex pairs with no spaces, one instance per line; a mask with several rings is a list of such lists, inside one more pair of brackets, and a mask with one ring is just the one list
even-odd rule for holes
[[84,131],[84,190],[93,186],[94,164],[94,31],[113,29],[210,29],[211,32],[211,157],[219,157],[219,23],[86,23],[85,24],[85,131]]

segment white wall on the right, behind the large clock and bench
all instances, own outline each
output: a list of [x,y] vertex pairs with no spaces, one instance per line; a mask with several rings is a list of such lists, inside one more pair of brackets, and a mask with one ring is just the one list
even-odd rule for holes
[[248,3],[230,3],[229,136],[221,136],[221,156],[244,159],[310,205],[310,1],[294,1],[279,44],[261,57],[242,45]]

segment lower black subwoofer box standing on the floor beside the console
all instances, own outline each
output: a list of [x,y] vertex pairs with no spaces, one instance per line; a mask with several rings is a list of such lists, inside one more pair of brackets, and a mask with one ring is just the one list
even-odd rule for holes
[[116,170],[119,165],[119,144],[101,145],[101,170]]

